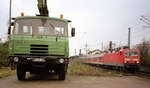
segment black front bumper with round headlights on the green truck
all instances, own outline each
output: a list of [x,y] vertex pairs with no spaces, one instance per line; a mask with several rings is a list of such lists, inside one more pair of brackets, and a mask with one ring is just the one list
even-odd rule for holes
[[[34,67],[44,67],[48,65],[69,64],[69,58],[60,56],[9,56],[10,63],[22,65],[33,65]],[[11,67],[12,70],[16,68]]]

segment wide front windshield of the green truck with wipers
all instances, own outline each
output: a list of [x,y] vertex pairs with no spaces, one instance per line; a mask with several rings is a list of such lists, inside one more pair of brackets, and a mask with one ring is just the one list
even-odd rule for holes
[[13,34],[67,36],[67,24],[58,20],[19,19],[15,22]]

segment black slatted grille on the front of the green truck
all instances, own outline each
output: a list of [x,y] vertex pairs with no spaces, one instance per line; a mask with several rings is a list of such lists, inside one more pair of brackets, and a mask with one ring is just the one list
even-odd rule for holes
[[48,45],[31,44],[30,53],[31,54],[48,54]]

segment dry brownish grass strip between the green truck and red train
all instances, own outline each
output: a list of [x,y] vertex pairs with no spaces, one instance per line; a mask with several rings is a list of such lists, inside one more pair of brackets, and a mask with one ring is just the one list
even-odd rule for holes
[[84,64],[81,59],[75,59],[69,64],[68,75],[99,76],[99,77],[122,77],[122,73],[106,70],[99,67]]

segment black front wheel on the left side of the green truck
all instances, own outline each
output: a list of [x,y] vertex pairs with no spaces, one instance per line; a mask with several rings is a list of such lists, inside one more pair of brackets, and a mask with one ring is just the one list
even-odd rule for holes
[[17,66],[17,78],[18,78],[18,80],[24,80],[25,76],[26,76],[26,72],[23,69],[23,66],[18,65]]

